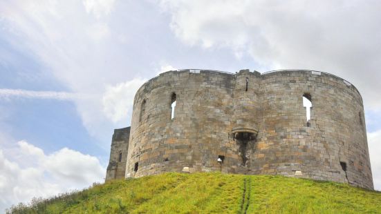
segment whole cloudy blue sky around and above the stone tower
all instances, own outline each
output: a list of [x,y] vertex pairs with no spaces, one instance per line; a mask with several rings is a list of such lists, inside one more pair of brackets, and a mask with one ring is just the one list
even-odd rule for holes
[[0,210],[103,182],[133,96],[174,69],[332,73],[381,191],[381,1],[0,0]]

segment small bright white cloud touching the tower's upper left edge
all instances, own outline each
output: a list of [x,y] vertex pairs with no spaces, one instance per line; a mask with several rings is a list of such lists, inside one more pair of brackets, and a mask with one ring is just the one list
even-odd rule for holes
[[106,86],[102,98],[103,111],[106,117],[114,123],[127,121],[127,116],[132,114],[133,97],[145,79],[133,79],[115,86]]

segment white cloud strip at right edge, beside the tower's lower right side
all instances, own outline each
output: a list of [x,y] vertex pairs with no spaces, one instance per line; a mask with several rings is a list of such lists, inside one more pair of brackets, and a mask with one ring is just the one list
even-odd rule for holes
[[374,188],[381,191],[381,130],[368,133],[368,145]]

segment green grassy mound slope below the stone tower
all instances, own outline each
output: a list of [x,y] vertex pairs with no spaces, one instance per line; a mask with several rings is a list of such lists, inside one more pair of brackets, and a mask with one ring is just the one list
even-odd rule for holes
[[10,213],[381,213],[381,193],[270,175],[166,173],[115,180]]

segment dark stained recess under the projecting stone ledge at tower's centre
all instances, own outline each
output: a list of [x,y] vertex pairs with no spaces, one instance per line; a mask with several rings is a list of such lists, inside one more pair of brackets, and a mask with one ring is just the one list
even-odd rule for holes
[[234,135],[236,143],[239,146],[239,153],[241,153],[242,165],[248,166],[250,155],[255,152],[256,136],[254,133],[236,133]]

